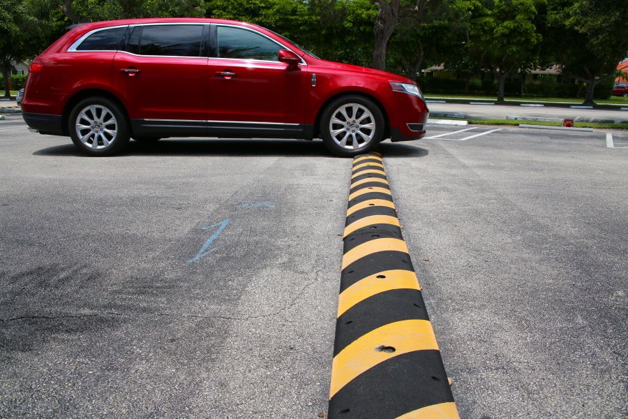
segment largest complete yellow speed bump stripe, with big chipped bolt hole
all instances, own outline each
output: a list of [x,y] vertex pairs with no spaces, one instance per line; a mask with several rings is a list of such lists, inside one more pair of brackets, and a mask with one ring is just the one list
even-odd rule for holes
[[331,362],[329,398],[347,383],[380,362],[413,351],[438,351],[428,320],[389,323],[352,341]]

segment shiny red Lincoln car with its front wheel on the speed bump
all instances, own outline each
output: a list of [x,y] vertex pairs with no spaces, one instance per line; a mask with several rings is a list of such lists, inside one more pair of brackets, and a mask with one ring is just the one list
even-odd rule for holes
[[33,60],[22,98],[31,131],[87,154],[129,138],[322,138],[354,156],[425,135],[408,78],[315,57],[244,22],[132,19],[75,27]]

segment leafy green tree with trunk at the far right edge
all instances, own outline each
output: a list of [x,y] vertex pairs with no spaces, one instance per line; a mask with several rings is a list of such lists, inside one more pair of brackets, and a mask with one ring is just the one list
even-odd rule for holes
[[628,2],[551,0],[547,42],[562,73],[585,82],[583,104],[592,105],[595,87],[616,73],[628,54]]

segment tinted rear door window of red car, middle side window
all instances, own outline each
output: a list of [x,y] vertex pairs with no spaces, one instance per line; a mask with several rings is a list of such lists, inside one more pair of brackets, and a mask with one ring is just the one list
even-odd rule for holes
[[145,26],[140,37],[140,54],[198,57],[203,27],[200,24]]

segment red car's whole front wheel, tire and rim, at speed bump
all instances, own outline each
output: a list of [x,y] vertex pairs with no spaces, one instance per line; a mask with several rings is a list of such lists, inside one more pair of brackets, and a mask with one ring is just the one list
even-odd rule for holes
[[343,96],[331,102],[320,119],[324,145],[334,154],[352,157],[373,150],[384,136],[384,115],[363,96]]

